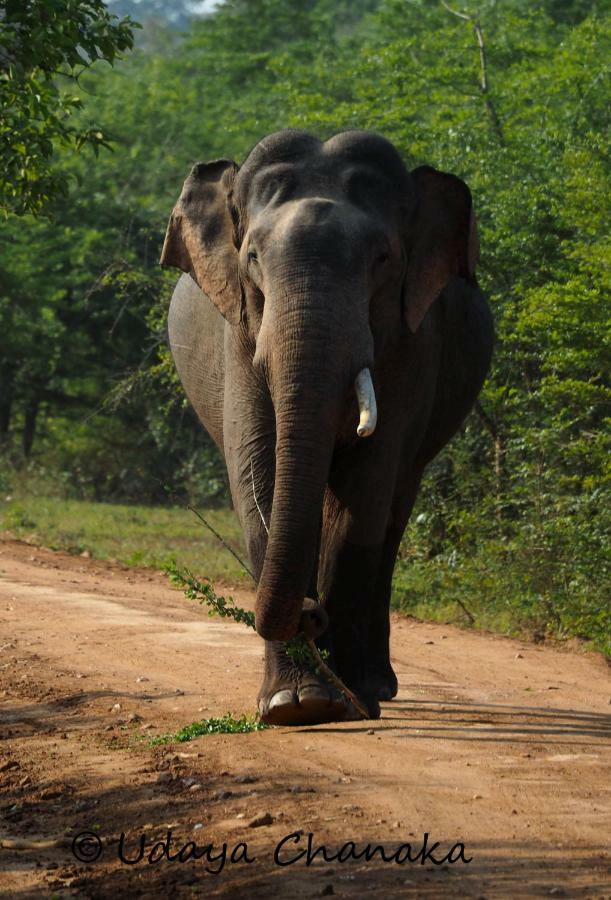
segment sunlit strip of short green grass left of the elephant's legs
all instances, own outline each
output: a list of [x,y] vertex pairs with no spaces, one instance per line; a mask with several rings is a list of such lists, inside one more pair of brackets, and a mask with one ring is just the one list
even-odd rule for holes
[[[203,510],[206,519],[244,559],[242,532],[232,510]],[[16,495],[0,501],[0,530],[34,544],[83,553],[127,566],[162,569],[180,559],[195,571],[233,584],[249,576],[218,540],[182,507],[126,506]]]

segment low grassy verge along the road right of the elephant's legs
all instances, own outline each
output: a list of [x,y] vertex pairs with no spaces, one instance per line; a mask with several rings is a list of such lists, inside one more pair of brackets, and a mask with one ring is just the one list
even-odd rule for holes
[[468,553],[400,559],[391,605],[418,619],[527,640],[578,638],[611,655],[609,582],[601,569],[593,577],[577,548],[563,558],[522,540],[482,541]]

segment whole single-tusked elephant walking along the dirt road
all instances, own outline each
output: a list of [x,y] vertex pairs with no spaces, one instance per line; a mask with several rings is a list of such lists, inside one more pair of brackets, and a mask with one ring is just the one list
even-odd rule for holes
[[[168,335],[223,454],[257,583],[258,695],[279,725],[355,719],[287,654],[299,631],[371,718],[397,693],[389,604],[424,469],[489,369],[471,193],[383,136],[288,129],[190,171],[161,265]],[[321,632],[324,630],[324,633]]]

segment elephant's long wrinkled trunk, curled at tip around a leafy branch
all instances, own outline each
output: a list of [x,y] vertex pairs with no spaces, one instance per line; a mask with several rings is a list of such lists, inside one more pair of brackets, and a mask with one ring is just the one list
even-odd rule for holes
[[[326,298],[297,299],[274,322],[267,370],[276,411],[276,476],[259,580],[256,627],[267,640],[297,632],[316,563],[321,510],[340,410],[367,351],[346,339]],[[331,312],[330,312],[331,310]],[[270,329],[271,330],[271,329]],[[363,358],[364,357],[364,358]]]

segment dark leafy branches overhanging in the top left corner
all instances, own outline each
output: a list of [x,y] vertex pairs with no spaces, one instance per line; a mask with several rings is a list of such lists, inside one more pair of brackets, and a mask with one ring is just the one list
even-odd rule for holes
[[[95,125],[72,124],[82,106],[77,80],[96,61],[111,65],[131,48],[129,19],[103,0],[2,0],[0,3],[0,209],[40,212],[66,193],[58,146],[98,153],[108,147]],[[72,90],[62,80],[74,83]]]

